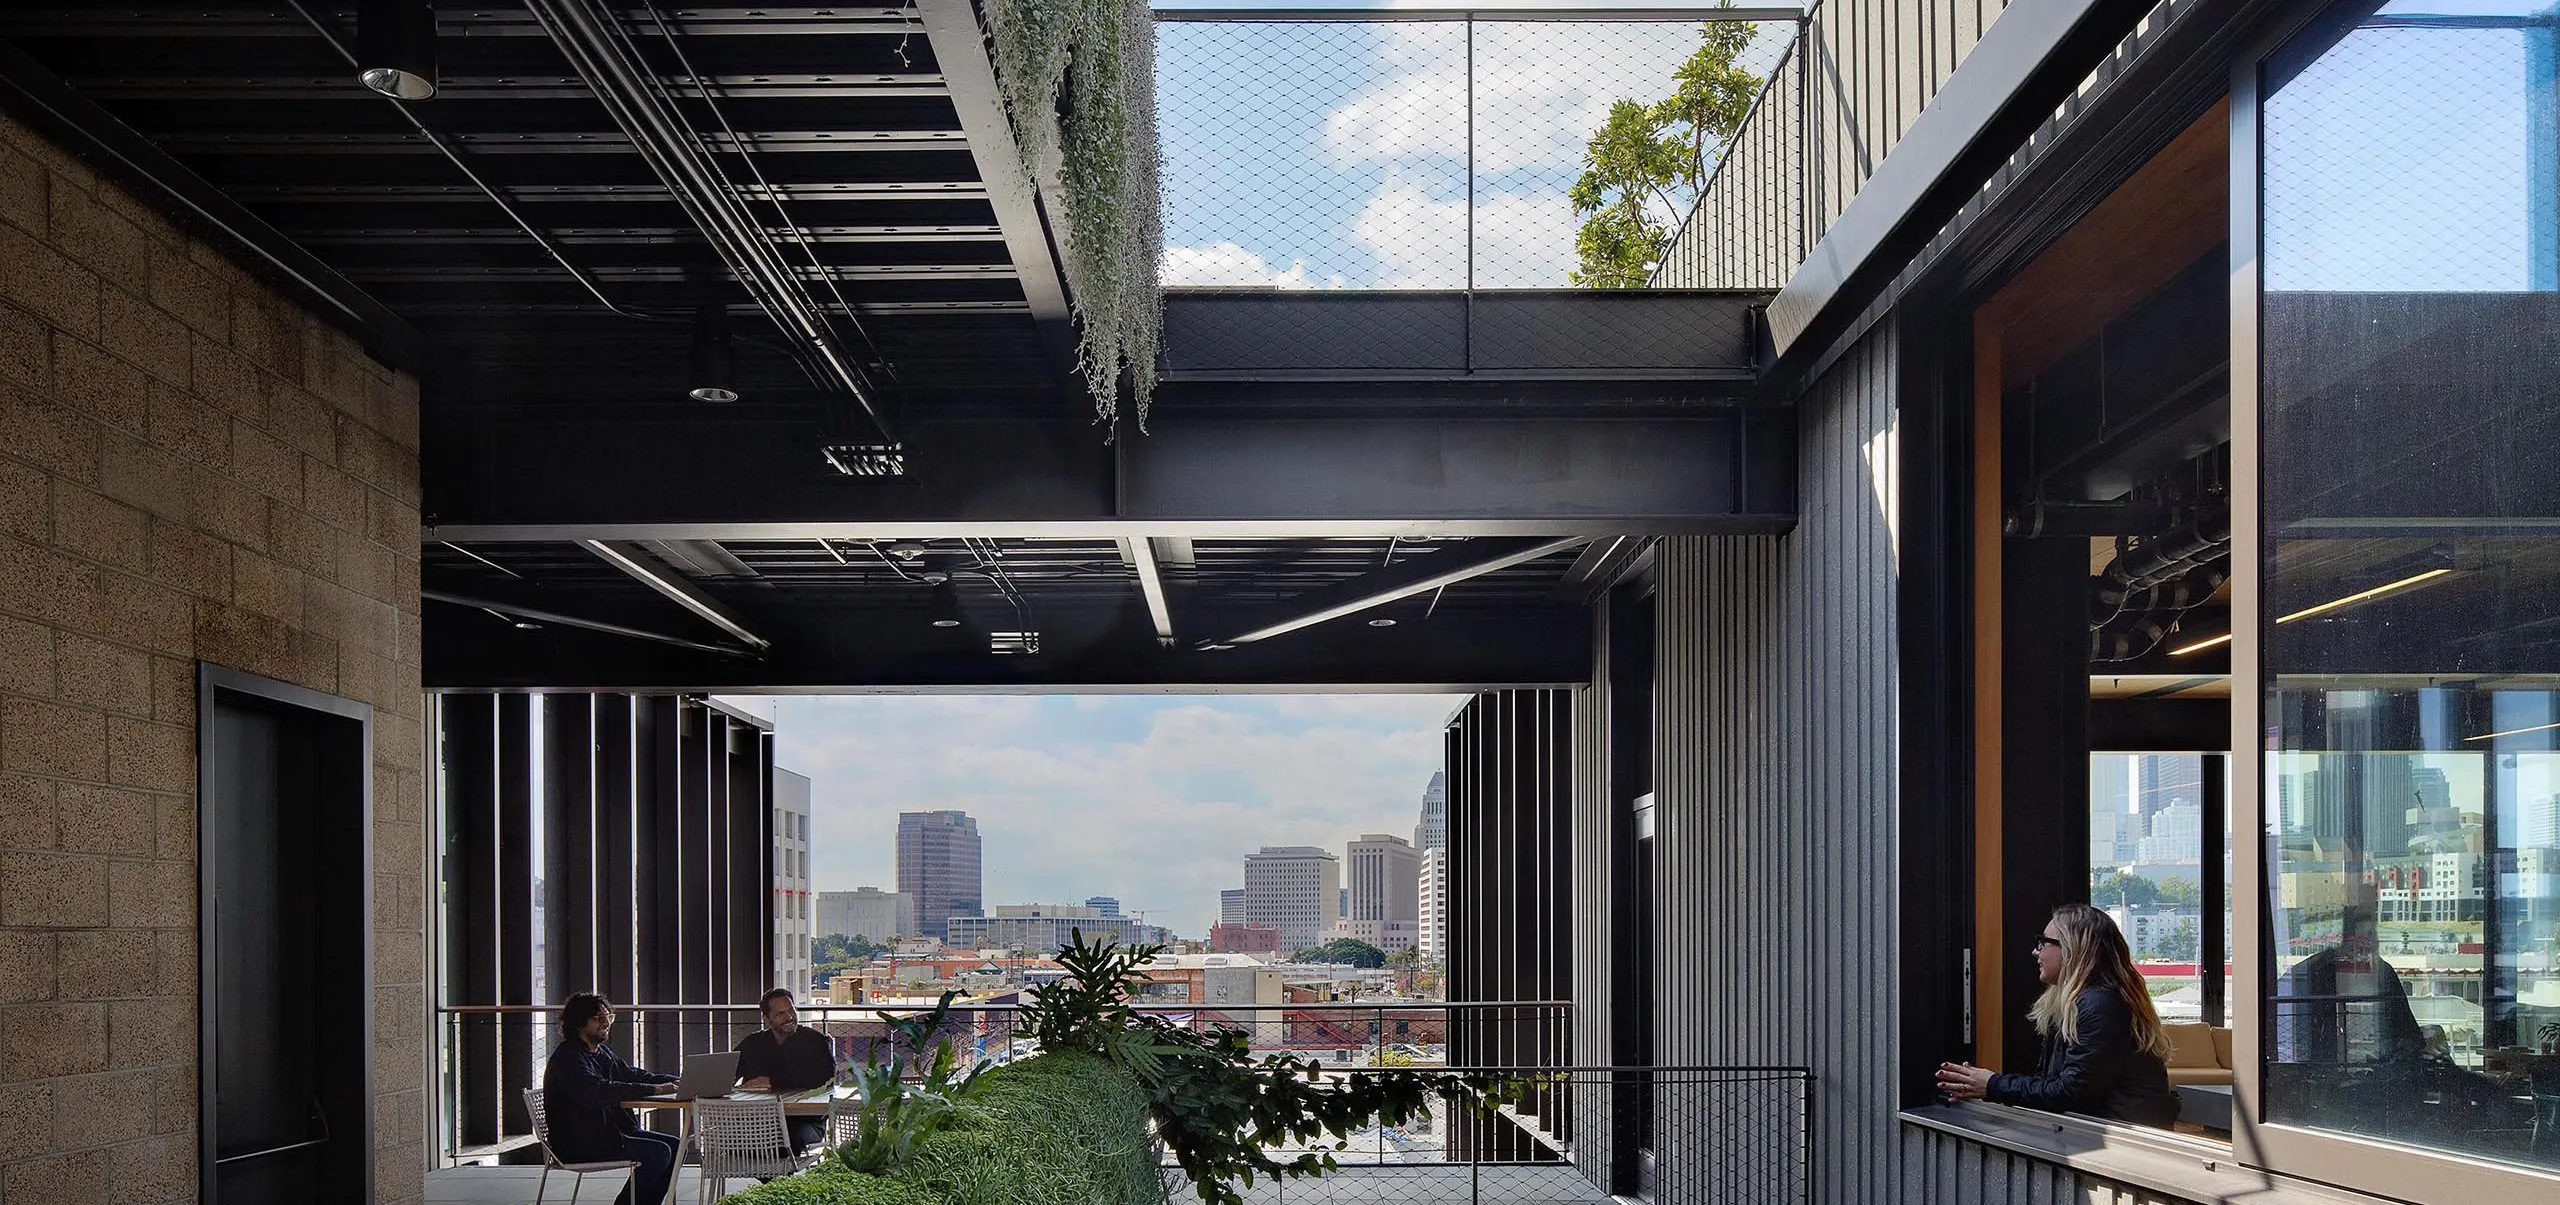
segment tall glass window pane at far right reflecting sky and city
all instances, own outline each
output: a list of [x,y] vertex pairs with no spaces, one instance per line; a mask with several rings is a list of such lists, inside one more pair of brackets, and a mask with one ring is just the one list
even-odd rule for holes
[[2560,1167],[2560,13],[2263,67],[2271,1123]]

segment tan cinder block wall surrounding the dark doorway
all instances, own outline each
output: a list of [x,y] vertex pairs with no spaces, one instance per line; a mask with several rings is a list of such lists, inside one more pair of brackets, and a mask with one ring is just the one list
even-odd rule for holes
[[197,660],[374,706],[379,1200],[425,1179],[417,384],[0,118],[0,1202],[195,1200]]

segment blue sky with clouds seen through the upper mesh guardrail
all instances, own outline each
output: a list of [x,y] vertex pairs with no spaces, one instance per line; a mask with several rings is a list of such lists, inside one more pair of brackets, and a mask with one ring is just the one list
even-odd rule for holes
[[[1746,67],[1787,41],[1764,26]],[[1569,284],[1585,141],[1695,49],[1687,23],[1475,26],[1477,287]],[[1464,23],[1160,23],[1165,284],[1467,284],[1467,87]]]

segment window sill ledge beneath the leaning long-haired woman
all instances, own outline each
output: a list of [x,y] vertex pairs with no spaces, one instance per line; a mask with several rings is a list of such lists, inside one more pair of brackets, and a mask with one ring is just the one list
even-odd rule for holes
[[2179,1200],[2248,1200],[2253,1205],[2376,1205],[2388,1200],[2240,1167],[2232,1146],[2222,1141],[2071,1113],[1971,1103],[1910,1108],[1900,1113],[1900,1121]]

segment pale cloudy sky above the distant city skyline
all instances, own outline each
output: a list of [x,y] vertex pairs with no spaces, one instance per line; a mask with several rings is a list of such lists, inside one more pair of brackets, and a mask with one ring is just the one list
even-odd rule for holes
[[819,890],[896,885],[899,811],[978,819],[988,903],[1119,895],[1201,936],[1262,844],[1411,839],[1464,696],[758,698]]

